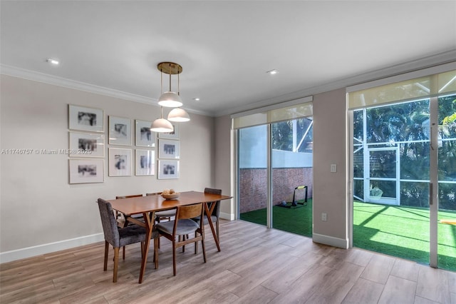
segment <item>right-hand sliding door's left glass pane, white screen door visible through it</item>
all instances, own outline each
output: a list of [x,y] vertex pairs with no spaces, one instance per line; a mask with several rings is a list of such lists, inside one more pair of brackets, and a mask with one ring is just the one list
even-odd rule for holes
[[353,245],[430,258],[430,101],[353,111]]

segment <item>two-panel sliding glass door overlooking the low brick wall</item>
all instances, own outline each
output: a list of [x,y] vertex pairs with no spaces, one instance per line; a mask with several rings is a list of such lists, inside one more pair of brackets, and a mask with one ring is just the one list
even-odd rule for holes
[[239,218],[312,235],[311,118],[239,128]]

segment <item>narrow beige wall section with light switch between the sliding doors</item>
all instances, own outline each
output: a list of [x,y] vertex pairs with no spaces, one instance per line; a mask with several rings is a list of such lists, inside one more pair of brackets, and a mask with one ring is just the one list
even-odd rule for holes
[[[344,88],[314,95],[313,239],[342,248],[348,246],[346,113]],[[321,221],[321,213],[327,221]]]

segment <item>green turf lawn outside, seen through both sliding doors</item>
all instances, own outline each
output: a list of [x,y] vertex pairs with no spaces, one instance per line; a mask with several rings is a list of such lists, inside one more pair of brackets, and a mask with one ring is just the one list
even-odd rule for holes
[[[300,208],[273,207],[273,227],[312,235],[312,200]],[[266,225],[266,208],[242,213],[244,221]],[[439,211],[438,219],[456,219],[454,211]],[[439,268],[456,271],[456,226],[437,224]],[[429,264],[429,210],[373,203],[353,203],[353,245],[398,258]]]

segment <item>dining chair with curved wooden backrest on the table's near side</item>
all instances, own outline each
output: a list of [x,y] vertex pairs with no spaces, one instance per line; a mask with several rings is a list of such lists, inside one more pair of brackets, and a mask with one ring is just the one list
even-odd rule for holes
[[[172,273],[176,275],[176,249],[184,248],[185,245],[195,243],[197,247],[201,240],[202,254],[204,263],[206,263],[206,250],[204,248],[204,225],[202,216],[204,208],[202,203],[194,205],[178,206],[176,216],[173,221],[161,222],[155,224],[158,232],[158,238],[154,238],[154,252],[158,252],[158,239],[160,235],[172,242]],[[199,224],[192,220],[199,216]],[[194,238],[187,238],[187,235],[195,235]],[[182,238],[180,238],[182,237]],[[196,253],[196,252],[195,252]],[[155,255],[155,268],[158,268],[158,255]]]

